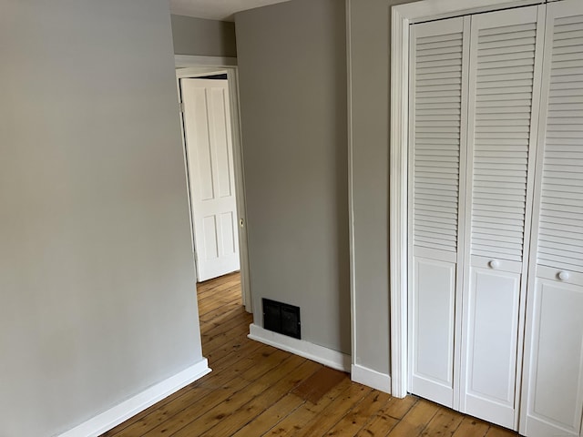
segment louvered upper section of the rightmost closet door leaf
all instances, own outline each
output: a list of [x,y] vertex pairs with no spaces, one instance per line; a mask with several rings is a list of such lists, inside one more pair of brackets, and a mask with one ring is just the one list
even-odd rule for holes
[[583,273],[583,15],[554,20],[537,263]]

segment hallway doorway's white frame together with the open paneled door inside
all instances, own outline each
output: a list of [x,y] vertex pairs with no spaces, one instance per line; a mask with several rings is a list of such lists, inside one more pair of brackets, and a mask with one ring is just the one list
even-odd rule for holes
[[235,66],[177,69],[197,281],[240,270],[252,312]]

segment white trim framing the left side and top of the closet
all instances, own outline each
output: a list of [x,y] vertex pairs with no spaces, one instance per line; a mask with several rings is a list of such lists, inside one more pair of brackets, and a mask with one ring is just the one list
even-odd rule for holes
[[[422,21],[540,5],[545,0],[423,0],[393,6],[391,15],[391,137],[389,182],[389,271],[391,276],[391,392],[403,398],[407,381],[407,153],[409,25]],[[353,272],[352,272],[353,273]],[[354,308],[353,308],[354,318]]]

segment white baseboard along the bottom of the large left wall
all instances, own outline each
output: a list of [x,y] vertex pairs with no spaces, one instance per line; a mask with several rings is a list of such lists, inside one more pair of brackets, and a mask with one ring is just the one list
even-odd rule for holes
[[146,410],[149,406],[168,397],[175,391],[186,387],[189,383],[197,381],[209,372],[209,362],[205,358],[188,369],[169,377],[167,380],[138,393],[127,401],[119,403],[107,410],[107,412],[97,414],[97,416],[81,423],[72,430],[63,432],[58,437],[97,437],[119,423],[127,421],[138,412]]

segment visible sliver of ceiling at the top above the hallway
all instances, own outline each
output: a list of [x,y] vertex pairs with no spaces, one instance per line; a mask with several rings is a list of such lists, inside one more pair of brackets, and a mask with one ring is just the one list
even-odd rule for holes
[[233,14],[288,0],[170,0],[170,12],[209,20],[233,21]]

